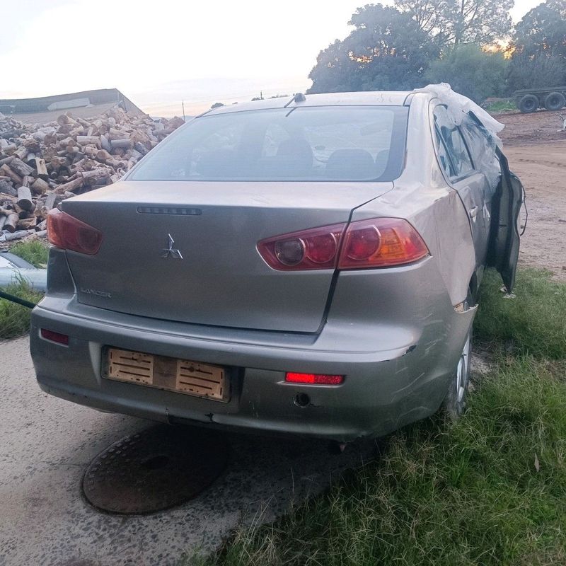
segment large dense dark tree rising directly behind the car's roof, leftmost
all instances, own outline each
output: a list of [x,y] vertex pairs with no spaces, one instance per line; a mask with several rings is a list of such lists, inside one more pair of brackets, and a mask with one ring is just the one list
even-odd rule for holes
[[381,4],[358,8],[349,22],[354,30],[335,40],[317,57],[308,75],[310,93],[411,89],[439,55],[429,35],[411,16]]

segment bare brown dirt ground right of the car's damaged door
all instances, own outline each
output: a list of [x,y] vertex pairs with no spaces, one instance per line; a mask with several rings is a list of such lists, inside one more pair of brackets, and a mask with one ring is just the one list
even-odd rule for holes
[[[566,115],[566,112],[565,112]],[[509,166],[526,191],[529,220],[519,262],[566,281],[566,132],[557,112],[495,116]],[[521,224],[524,223],[521,219]]]

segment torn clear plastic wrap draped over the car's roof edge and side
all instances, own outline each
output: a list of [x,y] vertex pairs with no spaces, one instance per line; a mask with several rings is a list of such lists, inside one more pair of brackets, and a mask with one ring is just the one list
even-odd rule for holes
[[[480,129],[487,141],[487,151],[480,151],[480,163],[476,163],[476,168],[482,171],[490,183],[492,192],[495,192],[499,179],[501,178],[501,167],[495,157],[495,148],[502,148],[502,141],[497,135],[505,127],[501,122],[478,106],[473,100],[466,96],[454,92],[448,83],[429,84],[423,88],[415,88],[415,92],[434,94],[441,103],[446,104],[450,119],[459,126],[466,116],[470,117]],[[439,123],[439,126],[444,124]],[[451,125],[446,124],[451,127]]]

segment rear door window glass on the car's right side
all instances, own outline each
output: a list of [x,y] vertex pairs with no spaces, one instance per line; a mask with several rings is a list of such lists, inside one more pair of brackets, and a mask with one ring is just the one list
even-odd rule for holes
[[[473,171],[473,163],[460,129],[454,125],[444,106],[434,109],[434,125],[437,130],[437,149],[449,158],[449,168],[444,168],[450,178],[461,178]],[[443,146],[442,151],[440,146]],[[442,161],[442,158],[441,158]]]

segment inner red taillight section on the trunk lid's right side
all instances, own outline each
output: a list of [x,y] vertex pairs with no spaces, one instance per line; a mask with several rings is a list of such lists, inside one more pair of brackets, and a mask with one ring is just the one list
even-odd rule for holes
[[327,270],[336,267],[345,224],[292,232],[258,243],[258,251],[274,270]]

